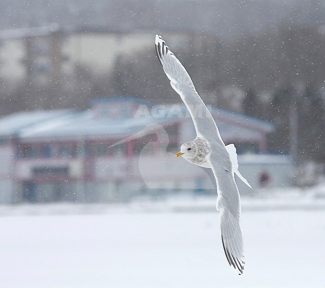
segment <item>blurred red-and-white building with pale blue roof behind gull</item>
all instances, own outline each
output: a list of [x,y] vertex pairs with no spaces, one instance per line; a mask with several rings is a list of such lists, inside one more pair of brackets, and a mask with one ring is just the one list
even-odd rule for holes
[[[238,153],[267,152],[270,123],[208,108],[224,142],[234,142]],[[212,189],[207,169],[174,156],[194,137],[182,104],[155,105],[132,96],[93,99],[86,110],[3,117],[0,202],[93,202],[149,190]]]

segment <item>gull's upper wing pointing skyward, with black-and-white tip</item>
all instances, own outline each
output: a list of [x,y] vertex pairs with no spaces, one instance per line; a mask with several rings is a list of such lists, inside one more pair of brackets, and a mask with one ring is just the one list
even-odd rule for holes
[[197,94],[186,69],[159,35],[155,36],[155,48],[172,88],[180,95],[193,119],[197,136],[224,146],[215,121]]

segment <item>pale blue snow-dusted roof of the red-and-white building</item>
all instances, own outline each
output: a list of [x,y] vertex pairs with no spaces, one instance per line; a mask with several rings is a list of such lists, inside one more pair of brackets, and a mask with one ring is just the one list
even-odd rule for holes
[[[165,125],[190,120],[183,104],[155,105],[131,96],[98,98],[86,110],[67,109],[19,112],[0,118],[0,136],[20,138],[125,136],[150,123]],[[221,108],[210,108],[222,136],[240,139],[268,133],[267,121]]]

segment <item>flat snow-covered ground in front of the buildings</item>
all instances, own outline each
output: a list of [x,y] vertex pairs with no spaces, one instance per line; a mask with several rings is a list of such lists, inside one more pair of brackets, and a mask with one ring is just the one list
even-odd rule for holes
[[0,286],[324,287],[323,198],[243,198],[241,276],[223,253],[214,201],[0,206]]

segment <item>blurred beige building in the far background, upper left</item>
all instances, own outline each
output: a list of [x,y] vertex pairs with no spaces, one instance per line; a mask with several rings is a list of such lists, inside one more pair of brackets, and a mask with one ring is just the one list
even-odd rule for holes
[[0,76],[39,86],[63,79],[73,84],[70,78],[76,65],[106,73],[117,55],[152,45],[152,37],[152,33],[139,36],[113,28],[61,27],[56,23],[0,30]]

